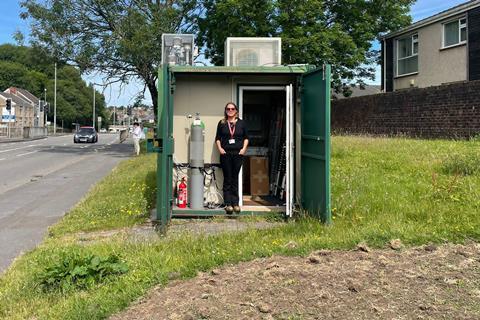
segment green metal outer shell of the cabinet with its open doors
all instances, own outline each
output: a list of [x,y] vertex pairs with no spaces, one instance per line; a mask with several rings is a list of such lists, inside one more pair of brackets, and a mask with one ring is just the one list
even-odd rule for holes
[[[173,114],[175,79],[177,75],[214,77],[243,76],[255,82],[265,76],[295,76],[295,96],[301,108],[301,186],[300,203],[296,205],[323,222],[331,222],[330,212],[330,66],[315,69],[311,66],[278,67],[195,67],[167,66],[158,75],[157,208],[154,219],[166,226],[173,212]],[[191,86],[195,86],[192,82]],[[201,112],[201,110],[199,110]],[[298,141],[298,140],[297,140]]]

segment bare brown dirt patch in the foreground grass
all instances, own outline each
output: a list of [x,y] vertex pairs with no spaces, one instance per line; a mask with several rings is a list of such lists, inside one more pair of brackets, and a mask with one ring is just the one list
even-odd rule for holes
[[480,244],[257,259],[155,288],[111,319],[480,319]]

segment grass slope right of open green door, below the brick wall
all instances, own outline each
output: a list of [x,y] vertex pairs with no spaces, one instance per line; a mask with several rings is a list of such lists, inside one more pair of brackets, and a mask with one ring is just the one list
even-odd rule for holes
[[[445,170],[480,159],[480,142],[336,137],[332,193],[336,224],[407,242],[478,238],[480,176]],[[478,162],[477,162],[478,164]],[[370,231],[368,231],[370,230]]]

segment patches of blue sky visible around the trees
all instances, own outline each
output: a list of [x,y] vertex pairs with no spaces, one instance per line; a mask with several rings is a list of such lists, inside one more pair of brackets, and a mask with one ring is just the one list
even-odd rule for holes
[[[2,14],[0,15],[0,44],[15,44],[13,34],[16,31],[21,31],[23,34],[28,35],[28,22],[19,17],[22,12],[20,2],[19,0],[0,0],[0,4],[2,4]],[[411,8],[410,14],[415,22],[464,2],[467,2],[467,0],[417,0]],[[378,44],[374,45],[378,46]],[[99,74],[85,75],[83,78],[88,83],[102,83],[102,77]],[[380,83],[379,68],[377,68],[376,80],[369,81],[368,83]],[[133,104],[137,93],[143,90],[143,85],[137,80],[122,86],[120,84],[108,85],[106,87],[98,86],[97,90],[104,93],[107,105],[120,106]],[[145,93],[145,103],[151,104],[151,97],[148,94],[148,90],[146,90]]]

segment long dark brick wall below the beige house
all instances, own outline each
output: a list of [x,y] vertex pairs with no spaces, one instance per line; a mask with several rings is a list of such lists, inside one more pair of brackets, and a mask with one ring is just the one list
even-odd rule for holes
[[332,101],[332,132],[465,138],[480,134],[480,80]]

